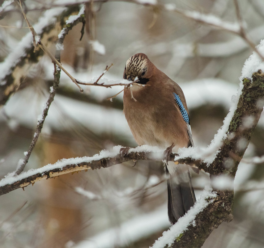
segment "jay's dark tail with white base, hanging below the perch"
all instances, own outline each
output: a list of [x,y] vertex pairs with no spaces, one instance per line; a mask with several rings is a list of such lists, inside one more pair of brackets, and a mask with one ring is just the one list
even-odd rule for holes
[[167,180],[168,217],[171,224],[175,224],[196,202],[188,166],[178,164],[177,168],[175,173],[169,173],[165,165],[166,174],[169,177]]

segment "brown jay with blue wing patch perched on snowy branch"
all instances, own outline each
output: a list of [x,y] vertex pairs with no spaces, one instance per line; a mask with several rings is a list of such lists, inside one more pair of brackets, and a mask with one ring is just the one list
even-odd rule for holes
[[126,61],[123,78],[133,82],[125,86],[123,112],[135,141],[165,150],[168,219],[175,224],[196,202],[189,166],[168,162],[180,147],[194,146],[185,96],[143,53]]

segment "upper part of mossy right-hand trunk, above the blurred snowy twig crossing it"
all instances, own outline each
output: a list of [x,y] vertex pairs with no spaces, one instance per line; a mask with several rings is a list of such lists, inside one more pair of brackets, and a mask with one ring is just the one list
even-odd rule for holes
[[224,145],[210,166],[211,175],[228,174],[235,177],[249,141],[258,124],[264,104],[264,73],[253,74],[253,80],[244,78],[242,93],[228,128]]

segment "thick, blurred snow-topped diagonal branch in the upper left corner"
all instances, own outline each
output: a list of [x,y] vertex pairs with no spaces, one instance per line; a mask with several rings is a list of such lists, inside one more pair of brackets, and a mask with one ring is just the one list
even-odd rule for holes
[[[55,7],[44,12],[34,24],[34,29],[45,46],[53,45],[53,40],[56,40],[58,35],[56,32],[63,28],[61,25],[64,20],[79,11],[79,8],[79,6]],[[61,28],[58,28],[59,26]],[[0,105],[5,104],[11,94],[19,88],[30,66],[43,56],[41,49],[34,52],[32,40],[32,33],[29,32],[0,63]]]

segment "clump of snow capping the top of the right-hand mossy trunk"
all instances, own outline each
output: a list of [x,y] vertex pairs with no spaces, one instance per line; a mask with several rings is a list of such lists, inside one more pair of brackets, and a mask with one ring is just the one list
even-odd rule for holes
[[[262,54],[262,56],[264,56],[264,39],[260,41],[260,44],[256,47],[256,49],[260,54]],[[240,81],[242,82],[245,77],[251,79],[252,74],[258,70],[262,70],[262,72],[264,72],[264,61],[262,61],[258,54],[253,51],[253,54],[251,54],[244,63]]]

